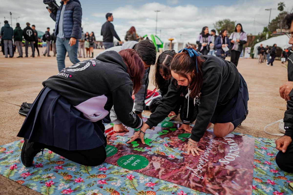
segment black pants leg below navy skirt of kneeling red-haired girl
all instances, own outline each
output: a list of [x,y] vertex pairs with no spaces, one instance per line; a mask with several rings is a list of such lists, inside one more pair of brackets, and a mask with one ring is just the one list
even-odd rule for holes
[[64,158],[67,158],[70,161],[79,163],[81,165],[98,166],[102,164],[106,159],[106,151],[103,145],[89,150],[65,150],[55,146],[48,146],[42,143],[36,143],[36,145],[37,149],[47,148],[55,152],[56,154],[59,154],[60,156],[63,156]]

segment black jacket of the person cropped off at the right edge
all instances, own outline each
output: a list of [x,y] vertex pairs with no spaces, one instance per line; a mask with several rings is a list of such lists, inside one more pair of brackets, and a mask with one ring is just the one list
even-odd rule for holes
[[[288,57],[288,81],[293,81],[293,54]],[[293,89],[289,93],[290,100],[287,100],[287,110],[284,115],[285,135],[293,138]]]

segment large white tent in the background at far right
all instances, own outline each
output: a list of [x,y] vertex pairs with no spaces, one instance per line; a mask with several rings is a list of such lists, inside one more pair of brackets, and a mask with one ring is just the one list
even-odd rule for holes
[[260,44],[263,44],[263,47],[267,45],[271,47],[274,44],[277,44],[277,47],[280,47],[282,48],[282,50],[284,50],[292,46],[288,42],[289,42],[289,37],[287,35],[272,37],[262,42],[258,42],[257,44],[254,45],[254,49],[253,49],[254,56],[257,56],[257,53],[258,53],[257,48],[260,46]]

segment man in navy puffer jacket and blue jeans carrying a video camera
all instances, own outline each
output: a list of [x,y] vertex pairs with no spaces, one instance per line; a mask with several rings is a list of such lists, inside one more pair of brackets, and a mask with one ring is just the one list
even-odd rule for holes
[[71,63],[76,64],[78,40],[81,37],[81,5],[79,0],[61,0],[57,13],[48,9],[50,17],[56,21],[55,36],[57,49],[57,65],[59,72],[65,68],[66,52]]

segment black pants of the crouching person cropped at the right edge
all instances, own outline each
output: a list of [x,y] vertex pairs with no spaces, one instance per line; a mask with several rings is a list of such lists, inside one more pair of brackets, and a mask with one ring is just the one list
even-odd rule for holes
[[293,173],[293,142],[288,146],[285,153],[279,151],[276,156],[276,163],[283,171]]

